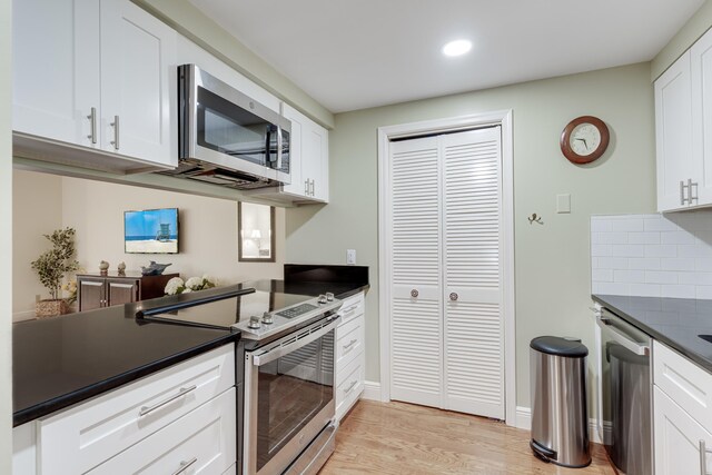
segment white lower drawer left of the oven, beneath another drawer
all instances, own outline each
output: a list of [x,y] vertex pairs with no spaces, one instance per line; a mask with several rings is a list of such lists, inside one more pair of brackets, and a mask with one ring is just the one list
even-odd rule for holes
[[158,431],[90,474],[221,474],[237,459],[235,388]]

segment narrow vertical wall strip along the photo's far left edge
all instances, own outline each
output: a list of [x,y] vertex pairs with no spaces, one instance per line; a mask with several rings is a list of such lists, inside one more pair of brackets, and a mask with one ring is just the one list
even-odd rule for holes
[[0,473],[12,472],[12,2],[0,2]]

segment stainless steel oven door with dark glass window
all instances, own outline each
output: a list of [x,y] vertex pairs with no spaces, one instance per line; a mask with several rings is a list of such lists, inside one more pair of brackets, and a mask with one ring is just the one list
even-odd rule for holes
[[336,321],[246,353],[246,474],[281,473],[333,422]]

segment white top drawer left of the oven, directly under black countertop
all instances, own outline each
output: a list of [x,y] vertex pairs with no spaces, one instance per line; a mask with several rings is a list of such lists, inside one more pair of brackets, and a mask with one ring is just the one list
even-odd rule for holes
[[230,344],[44,418],[42,473],[85,473],[234,385]]

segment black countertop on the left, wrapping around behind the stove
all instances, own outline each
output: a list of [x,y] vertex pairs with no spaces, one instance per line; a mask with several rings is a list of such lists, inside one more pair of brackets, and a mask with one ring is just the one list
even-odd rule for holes
[[254,280],[126,306],[21,321],[12,328],[18,426],[239,338],[229,330],[145,321],[139,310],[215,299],[248,288],[289,294],[368,289],[368,267],[285,265],[285,280]]

